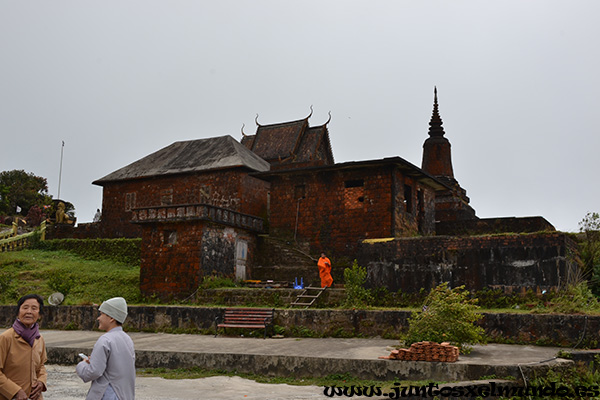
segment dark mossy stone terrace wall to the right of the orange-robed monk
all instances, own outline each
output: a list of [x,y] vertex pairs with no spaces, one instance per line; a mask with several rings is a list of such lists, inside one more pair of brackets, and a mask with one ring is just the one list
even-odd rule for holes
[[371,287],[415,292],[442,282],[468,289],[548,289],[578,268],[573,241],[564,233],[402,238],[363,244],[358,262]]

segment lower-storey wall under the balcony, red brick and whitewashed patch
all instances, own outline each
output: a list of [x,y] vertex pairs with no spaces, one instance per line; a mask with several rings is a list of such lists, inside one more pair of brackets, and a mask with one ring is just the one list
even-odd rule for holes
[[206,221],[143,224],[140,290],[145,296],[184,298],[207,275],[235,278],[238,241],[247,243],[247,274],[255,235]]

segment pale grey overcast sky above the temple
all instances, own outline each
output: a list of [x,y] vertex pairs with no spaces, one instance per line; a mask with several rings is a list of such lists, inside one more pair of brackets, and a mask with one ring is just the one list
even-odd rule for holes
[[482,218],[600,212],[600,1],[0,0],[0,171],[92,220],[92,181],[310,113],[336,162],[421,166],[437,86]]

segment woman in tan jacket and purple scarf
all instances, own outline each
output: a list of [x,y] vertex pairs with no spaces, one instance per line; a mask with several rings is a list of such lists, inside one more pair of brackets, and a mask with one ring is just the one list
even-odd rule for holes
[[17,302],[12,328],[0,335],[0,400],[41,400],[46,391],[46,344],[37,323],[44,300],[37,294]]

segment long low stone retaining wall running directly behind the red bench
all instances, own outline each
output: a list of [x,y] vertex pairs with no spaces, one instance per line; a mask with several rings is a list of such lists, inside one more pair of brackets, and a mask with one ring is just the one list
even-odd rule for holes
[[[131,306],[125,330],[149,332],[214,332],[220,307]],[[276,309],[274,323],[294,332],[313,336],[399,337],[408,327],[408,311],[377,310],[294,310]],[[0,327],[8,328],[15,306],[0,306]],[[42,329],[83,329],[97,327],[98,312],[92,306],[47,306]],[[495,341],[597,347],[600,316],[562,314],[484,313],[480,325]]]

